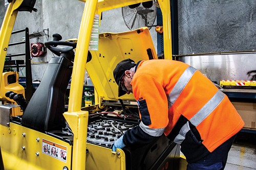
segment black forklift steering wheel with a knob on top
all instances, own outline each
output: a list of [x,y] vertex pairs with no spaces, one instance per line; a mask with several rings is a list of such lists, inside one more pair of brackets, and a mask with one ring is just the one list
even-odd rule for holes
[[[53,34],[52,37],[53,37],[53,40],[45,42],[45,45],[51,52],[53,52],[57,56],[60,56],[61,53],[67,53],[69,51],[74,50],[74,48],[76,48],[76,43],[74,42],[60,41],[62,37],[59,34]],[[62,46],[58,46],[58,45],[62,45]]]

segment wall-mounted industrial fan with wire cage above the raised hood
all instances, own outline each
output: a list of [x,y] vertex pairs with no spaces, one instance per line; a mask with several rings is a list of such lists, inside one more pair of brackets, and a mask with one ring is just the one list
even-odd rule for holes
[[135,30],[141,27],[148,27],[148,29],[151,29],[154,25],[156,14],[155,1],[122,7],[123,20],[130,30]]

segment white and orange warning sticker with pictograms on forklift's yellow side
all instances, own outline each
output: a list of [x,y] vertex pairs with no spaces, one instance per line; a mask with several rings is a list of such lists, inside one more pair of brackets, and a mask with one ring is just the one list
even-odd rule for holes
[[42,139],[42,153],[67,162],[67,147]]

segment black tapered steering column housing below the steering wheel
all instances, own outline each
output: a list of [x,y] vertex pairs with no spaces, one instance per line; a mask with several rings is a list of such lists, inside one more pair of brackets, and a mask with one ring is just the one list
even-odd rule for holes
[[[70,53],[70,52],[69,52]],[[72,51],[74,55],[74,52]],[[33,94],[22,117],[22,125],[39,131],[65,126],[65,92],[72,75],[72,57],[53,57],[40,85]]]

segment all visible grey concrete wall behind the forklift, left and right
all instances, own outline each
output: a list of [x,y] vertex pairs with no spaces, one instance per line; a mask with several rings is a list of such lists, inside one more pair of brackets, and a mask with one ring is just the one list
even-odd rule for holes
[[[58,33],[63,40],[77,38],[84,4],[80,1],[37,0],[37,12],[19,12],[14,30],[28,27],[30,33],[49,29],[50,37],[31,39],[31,42],[52,40]],[[0,0],[0,23],[6,7]],[[256,48],[255,0],[178,0],[179,54],[198,54],[227,51],[249,51]],[[100,33],[129,31],[122,19],[121,9],[103,12]],[[150,30],[157,49],[157,35]],[[12,37],[12,40],[20,40]],[[23,46],[17,48],[24,50]],[[15,49],[15,50],[17,50]],[[256,50],[256,49],[255,49]],[[8,53],[12,53],[11,48]],[[40,80],[53,54],[32,58],[33,80]],[[23,71],[23,74],[25,69]]]

